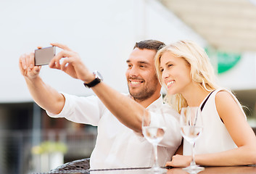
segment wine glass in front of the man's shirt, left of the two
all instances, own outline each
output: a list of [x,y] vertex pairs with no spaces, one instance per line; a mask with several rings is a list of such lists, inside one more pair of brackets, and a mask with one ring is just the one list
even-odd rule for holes
[[154,173],[165,173],[167,170],[158,164],[157,145],[165,135],[166,122],[161,109],[150,109],[144,112],[142,118],[142,133],[154,147],[154,165],[149,170]]

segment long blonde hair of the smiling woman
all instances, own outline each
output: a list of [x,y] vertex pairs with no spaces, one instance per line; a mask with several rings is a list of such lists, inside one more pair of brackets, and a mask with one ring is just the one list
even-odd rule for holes
[[[210,64],[209,57],[205,53],[205,50],[193,41],[178,41],[157,51],[154,59],[157,78],[166,90],[167,86],[162,83],[162,72],[160,70],[160,60],[162,54],[164,54],[166,51],[169,51],[176,57],[186,60],[191,68],[191,79],[194,82],[199,83],[199,86],[204,88],[206,91],[213,91],[218,88],[215,72]],[[165,96],[165,101],[175,108],[179,113],[181,112],[182,107],[188,106],[186,99],[184,99],[181,94],[174,94],[172,96],[167,94]]]

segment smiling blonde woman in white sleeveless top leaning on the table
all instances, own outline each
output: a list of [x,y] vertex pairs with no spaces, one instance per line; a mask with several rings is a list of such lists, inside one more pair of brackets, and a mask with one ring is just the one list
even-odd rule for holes
[[[215,74],[205,51],[192,41],[178,41],[157,52],[158,78],[168,93],[166,100],[181,113],[182,107],[201,107],[204,132],[197,140],[195,160],[199,165],[256,164],[256,138],[241,104],[215,83]],[[212,93],[211,93],[212,92]],[[191,146],[184,140],[183,155],[166,165],[186,167]]]

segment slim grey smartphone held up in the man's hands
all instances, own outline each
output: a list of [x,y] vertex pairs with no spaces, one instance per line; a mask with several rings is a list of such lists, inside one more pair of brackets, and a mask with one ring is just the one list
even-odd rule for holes
[[42,49],[35,50],[35,65],[49,65],[51,59],[56,54],[56,46],[49,46]]

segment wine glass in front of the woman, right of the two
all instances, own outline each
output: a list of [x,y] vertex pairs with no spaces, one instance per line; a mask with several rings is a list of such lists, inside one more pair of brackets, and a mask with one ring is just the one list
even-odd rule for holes
[[189,173],[198,173],[201,170],[204,170],[204,167],[196,165],[194,160],[194,146],[197,139],[202,134],[203,125],[202,125],[202,113],[199,107],[183,107],[181,108],[181,135],[186,141],[189,141],[192,148],[192,161],[189,167],[183,168]]

